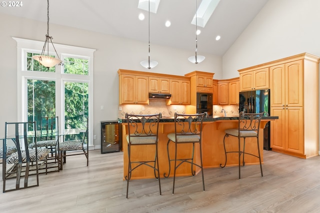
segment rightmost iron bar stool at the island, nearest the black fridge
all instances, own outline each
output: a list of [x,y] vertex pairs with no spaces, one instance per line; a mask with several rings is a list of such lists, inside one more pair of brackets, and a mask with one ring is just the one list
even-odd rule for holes
[[[244,154],[254,156],[259,159],[260,163],[260,170],[261,170],[261,177],[263,177],[262,173],[262,165],[261,165],[261,157],[260,157],[260,147],[259,147],[259,128],[260,128],[260,121],[261,117],[263,115],[267,114],[266,112],[262,113],[239,113],[239,119],[238,119],[238,128],[237,129],[226,129],[224,130],[225,135],[223,137],[223,147],[224,147],[224,153],[225,153],[225,162],[224,165],[220,164],[221,168],[224,168],[226,165],[227,160],[227,153],[238,153],[239,155],[239,179],[241,179],[240,176],[240,161],[241,161],[241,155],[242,155],[242,165],[244,166]],[[238,151],[226,151],[225,149],[225,138],[233,136],[238,138]],[[243,150],[240,150],[240,140],[243,138]],[[254,155],[252,153],[246,153],[244,151],[245,148],[245,138],[256,138],[257,142],[257,150],[258,155]]]

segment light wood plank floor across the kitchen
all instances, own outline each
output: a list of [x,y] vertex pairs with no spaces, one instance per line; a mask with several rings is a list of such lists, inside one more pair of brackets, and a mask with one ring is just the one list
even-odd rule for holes
[[[264,151],[263,175],[258,165],[204,170],[201,177],[132,180],[129,198],[122,180],[122,152],[89,151],[71,156],[63,171],[40,175],[40,186],[0,194],[1,213],[318,213],[320,156],[307,160]],[[1,185],[2,187],[2,185]]]

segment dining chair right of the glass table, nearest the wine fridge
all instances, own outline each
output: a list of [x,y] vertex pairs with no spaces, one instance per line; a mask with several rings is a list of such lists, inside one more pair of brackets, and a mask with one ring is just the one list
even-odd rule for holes
[[66,157],[68,156],[84,155],[86,157],[86,166],[89,165],[88,119],[86,119],[86,129],[80,129],[76,133],[74,136],[76,135],[80,138],[65,140],[70,135],[63,135],[63,140],[58,140],[56,150],[59,152],[60,170],[63,169],[63,164],[66,163]]

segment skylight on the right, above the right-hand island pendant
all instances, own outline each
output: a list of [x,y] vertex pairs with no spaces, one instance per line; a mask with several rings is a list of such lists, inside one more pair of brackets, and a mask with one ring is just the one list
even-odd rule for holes
[[[198,9],[196,10],[197,20],[196,24],[197,26],[204,27],[206,22],[211,17],[214,9],[218,5],[220,0],[202,0]],[[151,1],[150,1],[151,3]],[[151,4],[150,4],[151,6]],[[193,16],[193,19],[191,21],[191,24],[195,25],[195,14]]]

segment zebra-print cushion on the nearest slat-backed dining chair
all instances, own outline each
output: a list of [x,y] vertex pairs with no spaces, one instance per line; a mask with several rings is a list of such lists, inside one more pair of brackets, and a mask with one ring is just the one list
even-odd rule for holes
[[[40,148],[37,149],[37,156],[35,156],[35,149],[29,150],[29,155],[30,155],[30,162],[35,162],[35,158],[37,158],[38,161],[42,161],[45,159],[45,157],[50,153],[49,149],[46,148]],[[7,164],[17,164],[19,162],[18,158],[18,153],[12,153],[7,159],[6,163]],[[22,151],[22,163],[26,162],[26,156],[25,156],[25,151]]]

